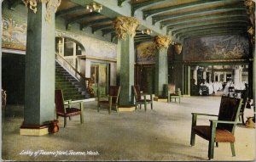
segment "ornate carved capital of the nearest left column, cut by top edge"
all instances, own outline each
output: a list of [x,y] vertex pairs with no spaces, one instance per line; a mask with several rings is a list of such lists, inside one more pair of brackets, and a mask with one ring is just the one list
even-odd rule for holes
[[22,0],[26,7],[29,6],[30,9],[36,14],[38,11],[38,3],[46,3],[46,15],[45,20],[50,22],[51,19],[51,9],[54,8],[55,12],[57,8],[61,5],[61,0]]

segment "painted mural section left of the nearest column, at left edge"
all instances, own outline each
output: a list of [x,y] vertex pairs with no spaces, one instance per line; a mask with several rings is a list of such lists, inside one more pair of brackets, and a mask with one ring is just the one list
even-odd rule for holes
[[26,50],[26,24],[3,17],[2,47]]

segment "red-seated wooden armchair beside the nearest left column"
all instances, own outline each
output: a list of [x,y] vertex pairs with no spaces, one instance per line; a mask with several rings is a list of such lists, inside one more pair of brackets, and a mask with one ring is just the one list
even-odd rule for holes
[[[64,117],[64,127],[66,127],[67,125],[67,117],[71,119],[70,117],[75,115],[80,115],[80,122],[84,123],[83,102],[76,102],[76,103],[79,103],[80,109],[71,107],[71,105],[73,104],[71,100],[68,100],[67,103],[64,102],[63,93],[61,89],[55,90],[56,117],[57,117],[57,120],[59,116]],[[65,106],[67,106],[67,108],[65,108]]]

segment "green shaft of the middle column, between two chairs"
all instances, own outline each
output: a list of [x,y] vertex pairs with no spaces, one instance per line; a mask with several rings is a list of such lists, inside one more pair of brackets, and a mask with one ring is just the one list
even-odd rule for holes
[[131,105],[133,102],[131,86],[134,85],[134,40],[133,36],[126,36],[118,41],[118,84],[121,87],[119,104]]

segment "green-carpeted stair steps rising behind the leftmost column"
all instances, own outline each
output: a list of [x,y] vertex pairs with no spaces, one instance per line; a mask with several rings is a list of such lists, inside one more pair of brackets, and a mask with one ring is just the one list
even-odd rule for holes
[[90,98],[85,85],[73,77],[73,75],[70,75],[57,61],[55,61],[55,89],[62,89],[65,100]]

